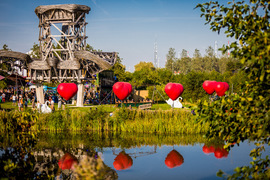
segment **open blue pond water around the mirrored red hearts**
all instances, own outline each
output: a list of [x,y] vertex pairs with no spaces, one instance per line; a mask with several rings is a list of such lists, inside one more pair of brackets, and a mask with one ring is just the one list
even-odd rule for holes
[[[216,177],[219,169],[232,174],[235,167],[248,165],[251,160],[249,152],[254,147],[244,142],[240,147],[233,148],[227,157],[216,158],[214,153],[204,153],[203,146],[198,143],[186,146],[162,145],[156,150],[154,146],[127,149],[125,152],[131,154],[133,165],[130,169],[117,171],[119,179],[220,179]],[[172,150],[179,152],[184,159],[182,165],[174,168],[165,164]],[[104,162],[111,168],[114,168],[116,157],[113,151],[118,153],[122,150],[105,148],[103,152]],[[154,153],[143,156],[139,152]]]

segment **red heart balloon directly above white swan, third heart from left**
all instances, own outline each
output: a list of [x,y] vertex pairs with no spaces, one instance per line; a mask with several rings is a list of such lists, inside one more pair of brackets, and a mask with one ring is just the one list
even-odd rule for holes
[[165,92],[173,101],[176,100],[184,92],[184,87],[179,83],[168,83],[165,86]]

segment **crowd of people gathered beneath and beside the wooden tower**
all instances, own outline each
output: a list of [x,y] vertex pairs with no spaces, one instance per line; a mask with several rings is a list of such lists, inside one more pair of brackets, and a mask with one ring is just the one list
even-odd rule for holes
[[[74,97],[76,99],[76,95]],[[65,109],[66,104],[74,103],[72,100],[64,100],[56,90],[46,90],[44,92],[44,102],[55,111],[55,104],[57,104],[58,109]],[[36,89],[35,88],[25,88],[19,87],[18,90],[12,86],[0,90],[0,103],[12,101],[13,106],[18,106],[19,111],[23,111],[27,108],[32,108],[33,110],[40,111],[42,104],[37,101]],[[128,97],[124,103],[134,103],[132,96]],[[140,102],[150,102],[149,99],[141,99]],[[106,90],[95,90],[93,88],[85,88],[84,90],[84,100],[83,104],[98,105],[98,104],[118,104],[121,101],[112,93],[112,91]]]

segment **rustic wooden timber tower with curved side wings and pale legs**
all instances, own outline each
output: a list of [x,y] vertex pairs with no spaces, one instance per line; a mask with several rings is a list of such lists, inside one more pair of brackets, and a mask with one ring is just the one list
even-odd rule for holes
[[[42,82],[74,81],[78,85],[77,106],[83,106],[82,80],[112,67],[116,52],[86,51],[86,14],[90,7],[77,4],[38,6],[39,56],[14,51],[0,51],[0,62],[12,69],[19,61],[20,69],[27,70],[27,79],[39,82],[37,99],[44,103]],[[18,64],[18,63],[17,63]]]

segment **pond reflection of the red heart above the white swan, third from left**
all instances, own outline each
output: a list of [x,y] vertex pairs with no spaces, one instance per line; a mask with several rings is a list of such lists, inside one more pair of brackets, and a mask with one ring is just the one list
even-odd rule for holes
[[168,168],[175,168],[184,163],[183,156],[176,150],[172,150],[165,159],[165,164]]

